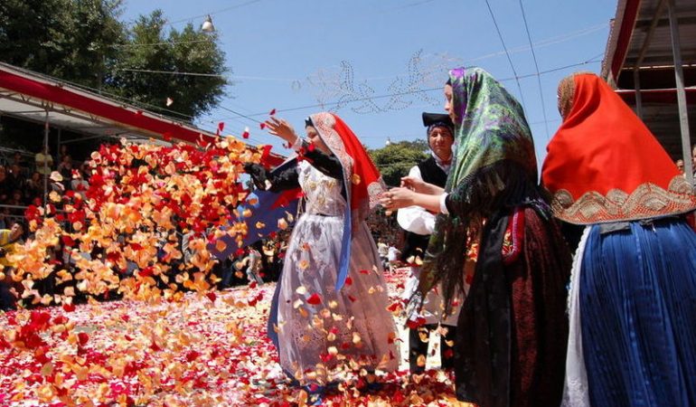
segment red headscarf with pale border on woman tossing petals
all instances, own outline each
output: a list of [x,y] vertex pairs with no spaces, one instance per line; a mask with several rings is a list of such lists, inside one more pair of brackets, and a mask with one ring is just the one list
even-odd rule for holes
[[[386,191],[380,171],[362,147],[353,130],[333,113],[316,113],[310,117],[319,136],[343,165],[345,185],[349,186],[349,199],[353,220],[364,220],[377,204],[380,194]],[[355,216],[357,214],[357,216]]]

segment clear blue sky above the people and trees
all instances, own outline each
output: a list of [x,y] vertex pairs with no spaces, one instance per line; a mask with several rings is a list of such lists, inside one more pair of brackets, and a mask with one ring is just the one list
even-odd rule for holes
[[537,77],[520,0],[488,1],[513,67],[485,0],[127,0],[123,18],[160,8],[182,28],[212,14],[234,85],[226,109],[200,118],[201,128],[224,121],[226,133],[240,134],[249,126],[254,144],[287,154],[258,123],[230,110],[263,120],[277,109],[297,129],[309,114],[332,110],[368,147],[422,138],[421,112],[443,111],[447,68],[478,65],[522,101],[541,163],[560,125],[556,86],[573,71],[600,70],[616,3],[522,0],[539,71],[591,61]]

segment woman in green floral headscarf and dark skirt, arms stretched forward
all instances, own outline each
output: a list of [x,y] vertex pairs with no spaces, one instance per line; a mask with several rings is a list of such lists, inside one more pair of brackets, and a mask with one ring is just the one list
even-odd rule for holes
[[522,106],[480,68],[450,71],[445,95],[456,149],[444,191],[407,180],[382,202],[440,213],[419,289],[425,295],[441,283],[447,308],[466,293],[456,327],[458,400],[558,406],[570,254],[541,197]]

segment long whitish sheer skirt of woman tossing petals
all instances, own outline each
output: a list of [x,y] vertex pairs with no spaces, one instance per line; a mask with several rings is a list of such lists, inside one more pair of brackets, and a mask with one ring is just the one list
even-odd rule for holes
[[387,287],[365,222],[353,230],[349,280],[336,292],[343,218],[304,214],[287,248],[278,298],[280,364],[300,382],[328,383],[343,368],[399,367]]

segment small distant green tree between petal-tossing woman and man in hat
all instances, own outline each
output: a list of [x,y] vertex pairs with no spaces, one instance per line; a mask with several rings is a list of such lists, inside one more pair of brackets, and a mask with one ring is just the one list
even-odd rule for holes
[[425,140],[400,141],[387,147],[369,150],[369,153],[384,182],[390,186],[398,186],[401,177],[409,175],[412,166],[428,158],[428,143]]

